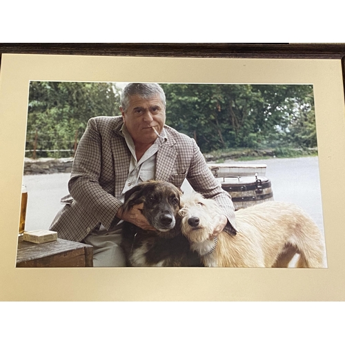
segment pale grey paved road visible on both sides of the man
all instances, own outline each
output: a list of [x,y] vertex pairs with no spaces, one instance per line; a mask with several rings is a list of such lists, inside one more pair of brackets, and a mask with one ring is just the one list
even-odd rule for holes
[[[295,202],[313,217],[321,230],[324,229],[317,157],[265,159],[243,163],[267,164],[266,177],[272,183],[274,199]],[[28,189],[27,231],[49,228],[61,208],[61,197],[68,193],[69,177],[70,174],[64,173],[24,176],[23,181]]]

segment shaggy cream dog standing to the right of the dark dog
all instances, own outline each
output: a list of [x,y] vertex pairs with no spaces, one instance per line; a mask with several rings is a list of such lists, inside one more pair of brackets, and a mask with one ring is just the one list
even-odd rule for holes
[[324,237],[314,221],[294,204],[266,201],[235,212],[237,235],[211,238],[213,216],[221,212],[199,193],[181,198],[181,230],[207,267],[326,267]]

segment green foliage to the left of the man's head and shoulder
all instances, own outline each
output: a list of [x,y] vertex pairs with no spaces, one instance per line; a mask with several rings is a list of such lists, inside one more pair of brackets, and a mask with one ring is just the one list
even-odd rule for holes
[[41,157],[60,157],[59,150],[70,156],[88,119],[99,115],[119,115],[114,84],[32,81],[26,149],[45,150]]

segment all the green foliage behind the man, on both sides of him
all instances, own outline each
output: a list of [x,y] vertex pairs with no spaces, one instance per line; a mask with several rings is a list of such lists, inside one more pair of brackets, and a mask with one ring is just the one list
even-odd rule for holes
[[[201,151],[317,146],[313,86],[161,84],[166,123],[195,138]],[[119,113],[114,83],[32,81],[27,150],[71,155],[90,117]],[[37,140],[35,136],[37,133]],[[57,151],[59,150],[59,151]]]

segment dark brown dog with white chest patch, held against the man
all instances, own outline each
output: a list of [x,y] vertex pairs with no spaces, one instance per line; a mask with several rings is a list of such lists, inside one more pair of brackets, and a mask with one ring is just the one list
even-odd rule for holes
[[121,247],[127,266],[202,266],[181,234],[181,191],[166,181],[147,181],[125,194],[124,210],[144,204],[143,215],[157,231],[125,222]]

